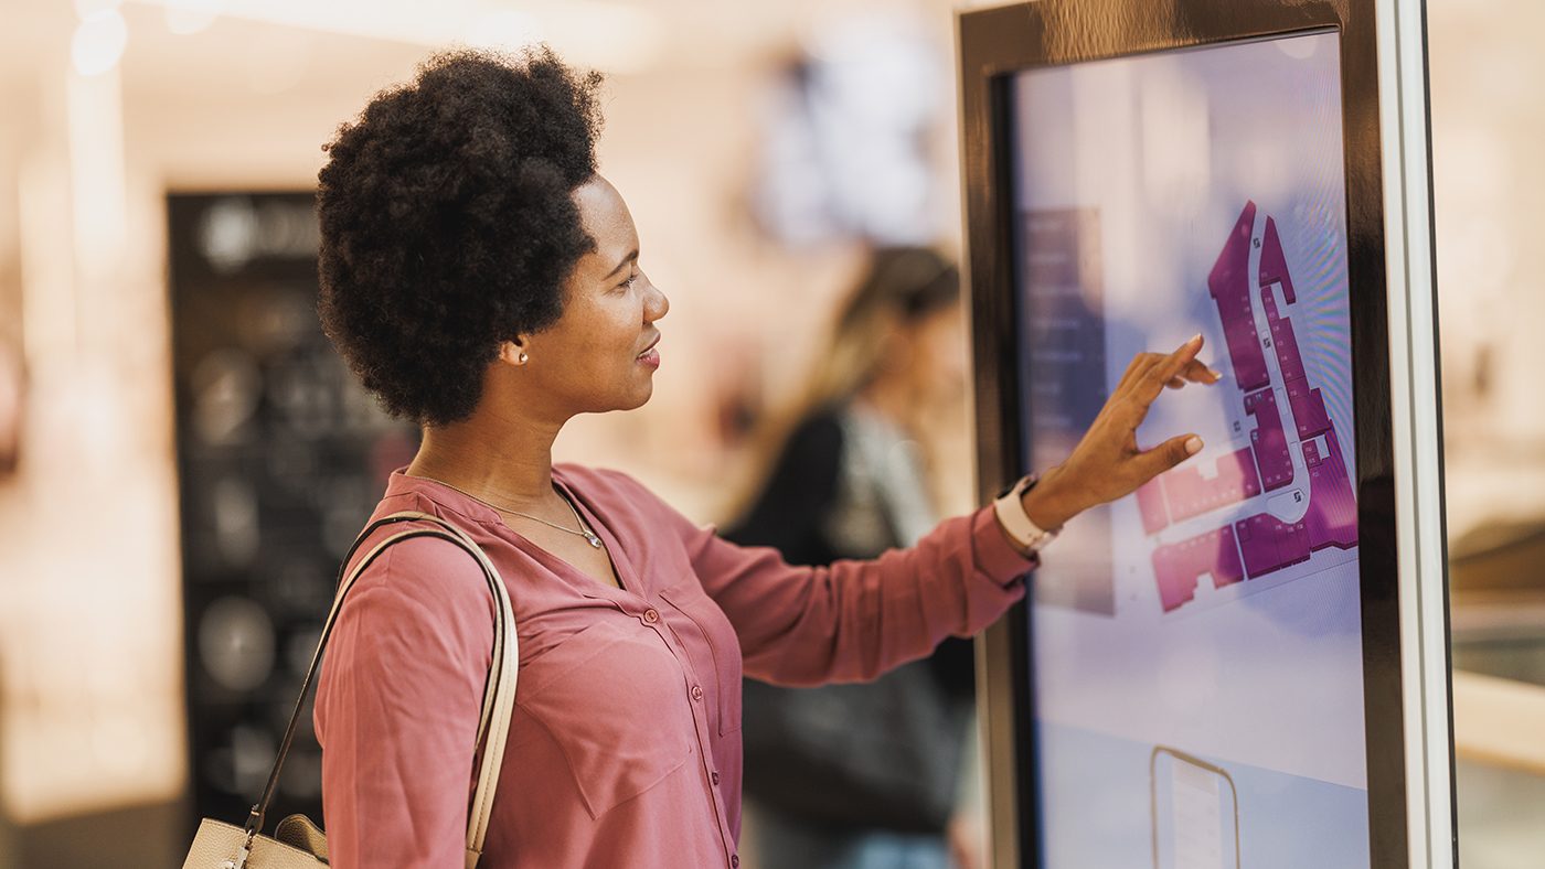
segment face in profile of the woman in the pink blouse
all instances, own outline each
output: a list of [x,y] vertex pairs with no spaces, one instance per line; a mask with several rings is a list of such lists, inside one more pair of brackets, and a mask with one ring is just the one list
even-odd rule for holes
[[638,267],[638,230],[616,188],[596,174],[573,201],[595,250],[569,275],[558,323],[527,336],[522,374],[564,414],[630,411],[654,392],[654,324],[671,303]]

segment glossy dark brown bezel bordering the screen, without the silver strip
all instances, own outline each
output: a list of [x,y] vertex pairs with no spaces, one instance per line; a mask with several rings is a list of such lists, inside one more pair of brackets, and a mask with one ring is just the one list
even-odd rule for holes
[[[1009,79],[1024,69],[1336,31],[1346,178],[1347,279],[1357,418],[1360,594],[1370,866],[1407,867],[1406,729],[1401,696],[1400,568],[1395,546],[1384,190],[1374,0],[1040,0],[959,17],[966,236],[972,286],[976,454],[987,499],[1021,466],[1018,323],[1012,247]],[[1034,582],[1034,579],[1032,579]],[[995,844],[1043,866],[1034,662],[1021,604],[983,644],[993,766],[1012,758],[1014,787],[993,787]],[[1004,661],[1007,665],[1004,665]],[[1026,750],[1027,749],[1027,750]],[[1004,827],[1009,827],[1006,830]],[[1012,835],[1010,835],[1012,830]],[[998,863],[1000,866],[1006,863]]]

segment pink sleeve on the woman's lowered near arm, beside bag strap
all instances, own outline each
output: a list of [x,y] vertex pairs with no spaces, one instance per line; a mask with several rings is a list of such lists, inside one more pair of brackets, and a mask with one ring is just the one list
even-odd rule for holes
[[386,549],[345,600],[317,691],[335,869],[462,866],[493,597],[462,549]]

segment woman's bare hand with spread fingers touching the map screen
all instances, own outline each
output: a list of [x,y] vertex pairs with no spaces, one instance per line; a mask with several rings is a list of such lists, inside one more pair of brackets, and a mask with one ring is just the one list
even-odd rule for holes
[[1137,353],[1105,407],[1089,424],[1068,462],[1041,475],[1024,492],[1024,512],[1040,528],[1061,528],[1069,519],[1134,492],[1159,474],[1202,451],[1194,434],[1173,437],[1146,451],[1137,449],[1137,426],[1165,386],[1213,384],[1222,375],[1197,361],[1202,336],[1173,353]]

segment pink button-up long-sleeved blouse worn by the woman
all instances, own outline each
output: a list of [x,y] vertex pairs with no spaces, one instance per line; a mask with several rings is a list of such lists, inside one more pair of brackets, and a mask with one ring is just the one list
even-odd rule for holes
[[[1035,566],[992,508],[912,549],[797,568],[698,528],[624,474],[564,465],[553,480],[624,588],[400,471],[372,517],[453,522],[514,604],[516,712],[480,869],[739,867],[742,671],[871,679],[990,624]],[[332,866],[462,866],[493,614],[476,562],[437,539],[391,546],[349,593],[315,708]]]

